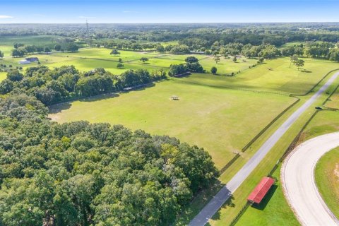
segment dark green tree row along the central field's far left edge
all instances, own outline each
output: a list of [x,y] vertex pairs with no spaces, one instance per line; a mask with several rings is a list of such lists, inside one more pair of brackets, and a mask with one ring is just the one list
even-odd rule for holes
[[35,66],[28,68],[25,74],[18,70],[8,72],[7,78],[0,83],[0,94],[26,93],[37,97],[44,105],[52,105],[71,98],[133,88],[162,78],[166,78],[162,70],[129,70],[117,76],[102,68],[81,73],[74,66],[56,69]]

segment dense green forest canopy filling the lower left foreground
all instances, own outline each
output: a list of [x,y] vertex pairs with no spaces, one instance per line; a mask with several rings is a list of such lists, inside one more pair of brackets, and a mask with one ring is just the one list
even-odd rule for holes
[[34,95],[0,97],[0,225],[172,225],[218,176],[203,148],[177,138],[47,112]]

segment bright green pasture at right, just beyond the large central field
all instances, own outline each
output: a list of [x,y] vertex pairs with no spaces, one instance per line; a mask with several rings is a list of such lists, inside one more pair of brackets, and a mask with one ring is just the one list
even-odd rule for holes
[[[287,57],[265,61],[252,69],[243,71],[237,76],[221,76],[220,83],[196,81],[201,85],[217,85],[220,88],[261,90],[273,93],[304,94],[310,90],[323,76],[333,69],[339,69],[339,64],[332,61],[304,59],[304,71],[290,67]],[[203,62],[203,61],[201,61]]]

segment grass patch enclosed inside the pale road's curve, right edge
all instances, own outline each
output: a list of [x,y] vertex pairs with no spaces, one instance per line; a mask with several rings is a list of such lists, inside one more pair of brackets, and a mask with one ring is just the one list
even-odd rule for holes
[[321,157],[316,164],[315,177],[323,200],[333,214],[339,218],[339,148]]

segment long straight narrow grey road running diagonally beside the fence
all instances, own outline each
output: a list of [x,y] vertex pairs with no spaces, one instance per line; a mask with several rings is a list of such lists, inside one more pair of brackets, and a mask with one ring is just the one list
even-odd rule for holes
[[232,193],[237,190],[237,188],[244,182],[244,180],[251,174],[251,172],[258,166],[258,164],[263,160],[266,154],[273,148],[275,143],[286,133],[290,126],[297,121],[302,113],[309,108],[316,99],[323,93],[332,83],[335,81],[335,78],[339,76],[339,72],[335,73],[307,102],[299,107],[276,131],[273,133],[268,140],[263,143],[261,148],[251,157],[251,159],[246,162],[246,164],[240,169],[237,174],[232,177],[230,182],[220,189],[218,194],[216,194],[206,206],[196,215],[196,217],[189,222],[189,226],[203,226],[206,225],[208,220],[213,217],[213,215],[221,208],[221,206],[230,198]]

